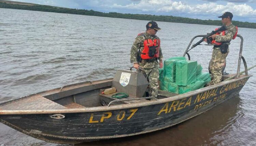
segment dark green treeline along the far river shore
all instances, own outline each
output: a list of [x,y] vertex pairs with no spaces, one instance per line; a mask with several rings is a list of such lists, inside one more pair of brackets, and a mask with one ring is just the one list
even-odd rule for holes
[[[5,3],[5,2],[1,2],[1,1],[0,1],[0,8],[12,8],[12,9],[20,9],[20,10],[68,13],[68,14],[137,19],[137,20],[154,20],[154,21],[176,22],[176,23],[222,25],[221,21],[219,21],[219,20],[200,20],[200,19],[191,19],[191,18],[174,17],[174,16],[122,14],[122,13],[115,13],[115,12],[102,13],[102,12],[97,12],[97,11],[93,11],[93,10],[80,10],[80,9],[48,6],[48,5],[39,5],[39,4],[34,4],[34,5],[9,4],[9,3]],[[232,23],[241,28],[256,29],[256,23],[240,22],[240,21],[232,21]]]

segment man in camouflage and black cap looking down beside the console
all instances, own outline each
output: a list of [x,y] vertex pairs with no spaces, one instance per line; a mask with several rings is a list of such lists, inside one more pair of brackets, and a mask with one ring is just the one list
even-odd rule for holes
[[[157,31],[161,30],[155,21],[150,21],[146,25],[146,32],[139,34],[131,47],[130,60],[133,63],[133,67],[137,70],[142,70],[145,77],[149,80],[150,96],[157,98],[158,95],[158,79],[159,71],[158,68],[163,67],[163,55],[161,47],[159,48],[159,57],[153,59],[141,59],[141,53],[144,49],[144,40],[146,39],[159,39],[156,36]],[[159,39],[160,40],[160,39]],[[159,60],[159,63],[157,61]]]

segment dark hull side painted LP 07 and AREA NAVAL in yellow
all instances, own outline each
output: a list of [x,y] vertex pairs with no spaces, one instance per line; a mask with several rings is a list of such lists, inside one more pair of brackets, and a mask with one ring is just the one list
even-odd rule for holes
[[[168,102],[90,112],[1,114],[0,120],[20,132],[53,143],[82,143],[161,130],[199,115],[239,94],[250,76],[181,94]],[[169,97],[172,98],[172,97]],[[161,101],[162,99],[159,99]],[[167,99],[165,99],[167,100]]]

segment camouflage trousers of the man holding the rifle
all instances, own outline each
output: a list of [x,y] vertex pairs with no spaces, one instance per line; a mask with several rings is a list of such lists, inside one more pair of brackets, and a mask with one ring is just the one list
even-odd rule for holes
[[[229,51],[228,51],[229,52]],[[228,52],[222,54],[219,48],[214,48],[212,52],[212,59],[210,61],[210,71],[211,71],[211,84],[221,83],[222,70],[226,62],[226,57]]]

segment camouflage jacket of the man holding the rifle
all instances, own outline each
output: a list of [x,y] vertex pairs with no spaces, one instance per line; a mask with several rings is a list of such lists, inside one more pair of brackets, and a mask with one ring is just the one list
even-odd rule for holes
[[227,30],[225,31],[225,35],[217,35],[215,40],[217,42],[222,42],[222,44],[230,45],[230,41],[232,40],[233,36],[236,34],[237,29],[236,26],[232,23],[227,26]]

